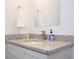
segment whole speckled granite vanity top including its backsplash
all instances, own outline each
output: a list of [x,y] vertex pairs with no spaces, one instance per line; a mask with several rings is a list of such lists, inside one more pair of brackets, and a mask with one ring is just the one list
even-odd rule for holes
[[56,35],[56,39],[54,41],[41,40],[41,37],[36,34],[30,34],[29,38],[31,38],[31,40],[27,40],[28,38],[26,34],[6,35],[6,43],[20,46],[22,48],[30,49],[44,54],[51,54],[55,53],[60,49],[72,47],[74,43],[73,36],[65,35]]

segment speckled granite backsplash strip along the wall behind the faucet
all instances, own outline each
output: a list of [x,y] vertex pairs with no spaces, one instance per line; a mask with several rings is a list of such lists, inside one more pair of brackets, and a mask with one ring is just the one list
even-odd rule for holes
[[[14,34],[14,35],[5,35],[5,39],[41,39],[40,34],[29,34],[29,38],[27,37],[28,34]],[[47,35],[46,35],[47,37]],[[71,40],[74,42],[74,36],[71,35],[55,35],[55,40]]]

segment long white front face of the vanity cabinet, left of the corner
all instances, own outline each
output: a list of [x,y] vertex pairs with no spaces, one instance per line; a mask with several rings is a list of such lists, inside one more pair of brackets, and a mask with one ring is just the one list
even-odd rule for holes
[[25,49],[16,45],[8,44],[8,59],[47,59],[47,55]]

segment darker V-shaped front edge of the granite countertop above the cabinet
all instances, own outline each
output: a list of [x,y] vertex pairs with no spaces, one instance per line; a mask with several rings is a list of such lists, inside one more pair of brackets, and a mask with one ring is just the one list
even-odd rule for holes
[[56,53],[57,51],[59,51],[61,49],[64,49],[66,47],[72,47],[74,45],[74,44],[70,44],[70,45],[66,45],[64,47],[57,48],[57,49],[52,50],[52,51],[44,51],[44,50],[40,50],[38,48],[22,45],[20,43],[10,42],[10,41],[7,41],[7,40],[5,40],[5,43],[13,44],[13,45],[16,45],[16,46],[19,46],[19,47],[22,47],[22,48],[25,48],[25,49],[29,49],[29,50],[32,50],[32,51],[35,51],[35,52],[39,52],[39,53],[42,53],[42,54],[45,54],[45,55]]

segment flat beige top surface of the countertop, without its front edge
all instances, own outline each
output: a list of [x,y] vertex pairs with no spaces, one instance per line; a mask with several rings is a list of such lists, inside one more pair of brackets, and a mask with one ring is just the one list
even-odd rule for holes
[[59,47],[63,47],[70,44],[70,42],[48,40],[13,40],[12,42],[22,44],[23,46],[27,46],[29,48],[37,48],[44,51],[57,49]]

